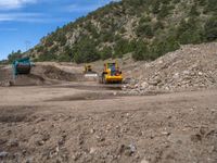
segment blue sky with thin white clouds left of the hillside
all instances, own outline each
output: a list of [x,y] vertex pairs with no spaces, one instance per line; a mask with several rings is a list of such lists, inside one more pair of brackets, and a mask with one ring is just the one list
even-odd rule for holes
[[0,60],[113,0],[0,0]]

